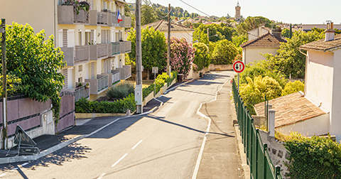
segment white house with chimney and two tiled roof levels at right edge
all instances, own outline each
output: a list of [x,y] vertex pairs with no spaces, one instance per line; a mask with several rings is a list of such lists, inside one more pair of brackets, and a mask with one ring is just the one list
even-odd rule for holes
[[[269,101],[276,110],[275,127],[284,133],[335,135],[341,140],[341,35],[328,23],[325,39],[301,45],[306,50],[304,93]],[[256,104],[259,114],[264,103]]]

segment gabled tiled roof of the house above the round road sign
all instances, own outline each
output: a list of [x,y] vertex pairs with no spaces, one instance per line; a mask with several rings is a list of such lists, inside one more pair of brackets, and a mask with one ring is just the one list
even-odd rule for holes
[[259,38],[250,40],[240,45],[241,48],[279,48],[281,42],[286,43],[283,38],[278,38],[271,33],[266,33]]

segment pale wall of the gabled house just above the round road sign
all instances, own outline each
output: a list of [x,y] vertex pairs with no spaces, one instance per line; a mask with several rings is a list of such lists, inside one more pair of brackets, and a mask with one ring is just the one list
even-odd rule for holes
[[272,55],[277,54],[278,48],[243,48],[243,62],[247,65],[256,60],[266,60],[263,55],[259,53],[271,53]]

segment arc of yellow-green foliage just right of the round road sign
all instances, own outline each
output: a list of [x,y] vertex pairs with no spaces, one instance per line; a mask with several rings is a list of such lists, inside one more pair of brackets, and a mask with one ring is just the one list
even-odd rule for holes
[[271,77],[274,78],[282,88],[286,86],[286,78],[281,72],[276,72],[271,68],[271,62],[260,60],[250,65],[245,66],[245,70],[240,73],[240,83],[247,83],[247,77],[254,79],[254,77]]

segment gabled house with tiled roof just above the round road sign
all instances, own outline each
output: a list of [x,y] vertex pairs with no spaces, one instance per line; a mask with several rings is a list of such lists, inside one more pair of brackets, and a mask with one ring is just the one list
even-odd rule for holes
[[243,62],[245,64],[253,63],[256,60],[266,60],[260,53],[277,54],[279,46],[281,43],[286,43],[286,40],[281,38],[281,29],[274,29],[273,33],[268,32],[259,38],[240,45],[243,49]]

